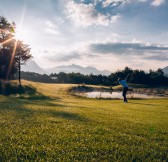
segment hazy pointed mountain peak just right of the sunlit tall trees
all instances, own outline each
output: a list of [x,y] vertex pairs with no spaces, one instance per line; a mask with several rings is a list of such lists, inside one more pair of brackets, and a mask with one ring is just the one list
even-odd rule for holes
[[29,71],[29,72],[39,73],[39,74],[47,74],[47,72],[43,68],[38,66],[36,62],[33,60],[29,60],[28,62],[26,62],[25,65],[22,65],[21,71],[25,71],[25,72]]

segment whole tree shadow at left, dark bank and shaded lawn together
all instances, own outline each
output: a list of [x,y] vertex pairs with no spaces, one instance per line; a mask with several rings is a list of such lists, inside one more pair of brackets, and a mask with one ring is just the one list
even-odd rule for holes
[[6,100],[0,103],[0,110],[12,111],[16,118],[47,115],[67,120],[88,121],[88,119],[79,114],[68,112],[66,110],[58,110],[60,108],[71,106],[61,103],[60,98],[50,98],[43,95],[31,85],[18,85],[14,82],[7,82],[1,84],[0,88],[0,94],[4,96],[16,96],[16,98],[6,98]]

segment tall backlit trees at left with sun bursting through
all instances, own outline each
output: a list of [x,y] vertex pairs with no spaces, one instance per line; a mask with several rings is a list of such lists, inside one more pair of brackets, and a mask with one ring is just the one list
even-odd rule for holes
[[21,65],[31,58],[30,48],[15,38],[16,25],[0,17],[0,79],[14,78]]

